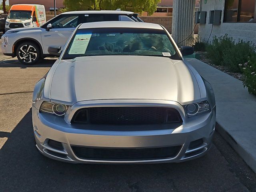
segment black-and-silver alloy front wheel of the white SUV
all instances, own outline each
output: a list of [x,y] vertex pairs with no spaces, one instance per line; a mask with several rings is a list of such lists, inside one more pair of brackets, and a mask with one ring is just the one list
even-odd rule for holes
[[33,42],[24,42],[18,45],[16,56],[22,64],[32,65],[41,58],[40,48]]

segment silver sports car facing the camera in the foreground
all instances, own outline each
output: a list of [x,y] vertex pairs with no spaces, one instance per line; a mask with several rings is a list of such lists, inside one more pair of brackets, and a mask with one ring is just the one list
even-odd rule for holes
[[[60,47],[48,51],[58,55]],[[72,163],[182,162],[212,143],[212,86],[158,24],[81,24],[35,86],[36,147]]]

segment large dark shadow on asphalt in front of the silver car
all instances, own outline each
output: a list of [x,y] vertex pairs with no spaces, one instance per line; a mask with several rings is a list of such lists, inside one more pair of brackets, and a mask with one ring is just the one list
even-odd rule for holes
[[[215,146],[179,164],[68,164],[42,156],[34,144],[30,111],[0,150],[0,191],[226,191],[238,180]],[[200,190],[199,190],[200,189]]]

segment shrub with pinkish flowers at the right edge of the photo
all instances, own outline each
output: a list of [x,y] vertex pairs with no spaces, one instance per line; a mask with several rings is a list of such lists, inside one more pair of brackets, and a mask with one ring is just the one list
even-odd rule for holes
[[248,88],[248,92],[256,95],[256,54],[250,57],[246,63],[239,64],[243,74],[243,85]]

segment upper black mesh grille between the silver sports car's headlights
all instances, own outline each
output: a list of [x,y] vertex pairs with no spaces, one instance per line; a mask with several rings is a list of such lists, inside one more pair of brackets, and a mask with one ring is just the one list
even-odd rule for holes
[[182,122],[173,108],[164,107],[93,107],[76,112],[72,123],[140,125]]

